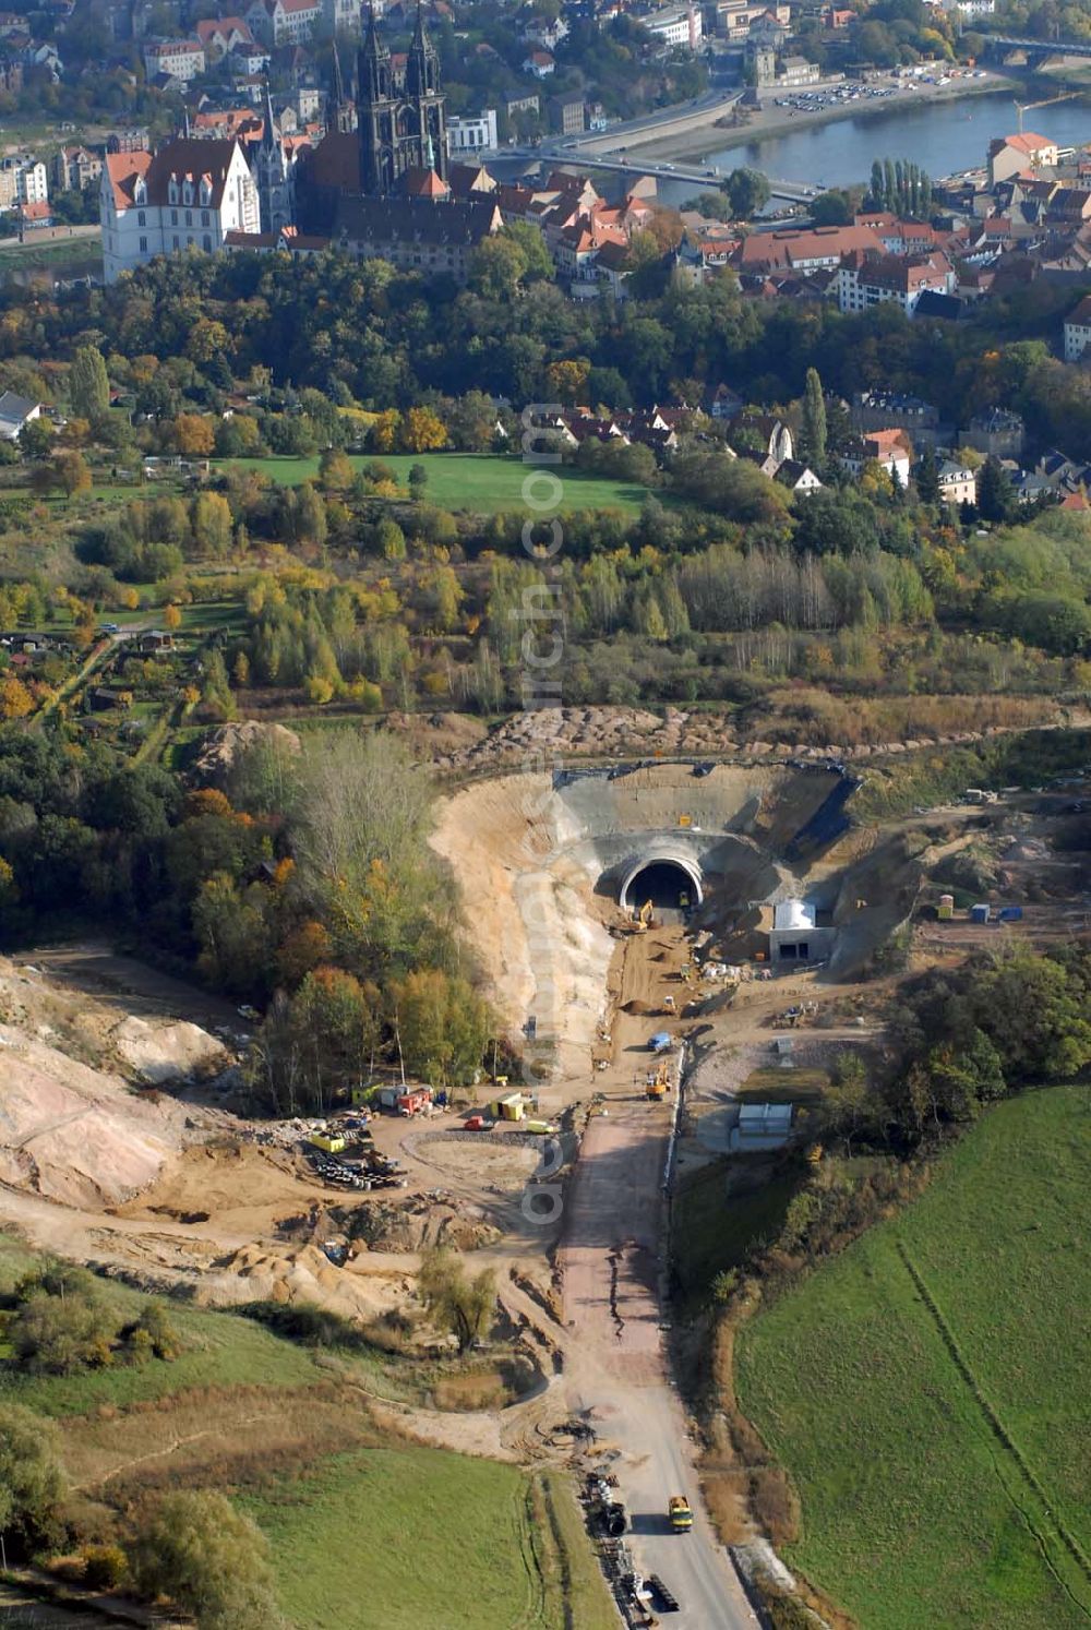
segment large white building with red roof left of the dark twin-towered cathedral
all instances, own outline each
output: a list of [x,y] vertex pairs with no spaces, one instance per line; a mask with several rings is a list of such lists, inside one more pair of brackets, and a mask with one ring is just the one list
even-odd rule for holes
[[259,231],[258,187],[233,140],[178,140],[152,153],[109,153],[99,192],[108,284],[157,254],[223,248]]

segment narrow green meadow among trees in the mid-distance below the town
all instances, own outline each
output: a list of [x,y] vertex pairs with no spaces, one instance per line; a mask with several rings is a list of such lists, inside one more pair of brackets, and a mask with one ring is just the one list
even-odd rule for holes
[[[349,461],[360,469],[375,460],[354,456]],[[540,476],[545,473],[545,466],[523,465],[519,458],[489,453],[383,453],[382,463],[390,465],[400,484],[408,482],[413,465],[424,465],[427,469],[424,500],[439,505],[439,509],[468,510],[473,515],[527,510],[523,481],[535,471]],[[272,481],[292,487],[318,476],[318,458],[235,458],[225,460],[220,468],[261,469]],[[550,474],[553,474],[551,469]],[[564,489],[561,509],[569,513],[572,510],[616,509],[636,515],[647,497],[647,487],[633,486],[628,481],[605,481],[579,469],[558,469],[556,476]],[[543,481],[538,481],[532,496],[541,504],[550,499],[550,491]]]

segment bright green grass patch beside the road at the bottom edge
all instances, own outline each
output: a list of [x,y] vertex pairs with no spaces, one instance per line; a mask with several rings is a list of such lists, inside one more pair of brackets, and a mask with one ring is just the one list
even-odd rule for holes
[[297,1630],[515,1630],[563,1625],[540,1610],[523,1472],[444,1449],[333,1456],[240,1496],[272,1544],[280,1602]]

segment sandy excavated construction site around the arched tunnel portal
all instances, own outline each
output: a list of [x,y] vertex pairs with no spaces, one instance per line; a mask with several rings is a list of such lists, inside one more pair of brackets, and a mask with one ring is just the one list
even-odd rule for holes
[[[484,1077],[457,1105],[422,1084],[321,1123],[248,1121],[230,1004],[93,944],[0,960],[0,1214],[201,1304],[316,1302],[373,1332],[419,1312],[427,1245],[488,1263],[519,1389],[416,1410],[414,1433],[613,1478],[589,1524],[605,1540],[599,1508],[626,1513],[610,1566],[631,1622],[652,1622],[633,1579],[654,1576],[680,1599],[672,1622],[757,1623],[755,1535],[740,1509],[734,1563],[716,1542],[670,1377],[664,1198],[678,1174],[801,1134],[833,1053],[879,1038],[892,941],[926,967],[1086,927],[1076,784],[881,823],[855,818],[861,774],[837,758],[452,791],[434,848],[525,1043],[522,1081]],[[806,1090],[762,1090],[793,1079]],[[669,1496],[696,1544],[672,1534]]]

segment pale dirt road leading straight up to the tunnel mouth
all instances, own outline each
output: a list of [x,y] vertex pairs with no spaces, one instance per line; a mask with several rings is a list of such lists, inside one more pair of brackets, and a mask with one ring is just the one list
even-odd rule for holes
[[[662,944],[659,936],[634,937],[625,955],[647,965]],[[572,1408],[589,1412],[599,1446],[615,1451],[636,1566],[657,1573],[678,1597],[672,1623],[753,1630],[758,1620],[705,1514],[696,1446],[664,1350],[659,1247],[670,1110],[633,1086],[634,1073],[647,1068],[647,1035],[656,1029],[660,1020],[618,1009],[613,1063],[595,1079],[607,1113],[594,1117],[584,1134],[559,1253],[564,1384]],[[690,1534],[670,1532],[672,1495],[690,1501]]]

